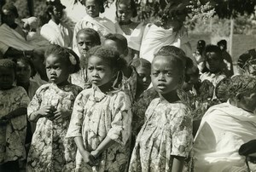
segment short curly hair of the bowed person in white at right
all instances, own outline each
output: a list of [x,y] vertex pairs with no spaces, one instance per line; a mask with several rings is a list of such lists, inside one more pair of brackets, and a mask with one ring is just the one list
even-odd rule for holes
[[256,78],[244,75],[231,77],[228,92],[230,97],[237,94],[247,95],[256,91]]

